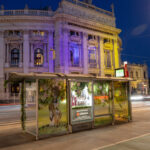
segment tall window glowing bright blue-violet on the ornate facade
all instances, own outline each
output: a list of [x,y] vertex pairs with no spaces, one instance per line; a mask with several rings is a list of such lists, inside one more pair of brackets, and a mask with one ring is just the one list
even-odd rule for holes
[[80,63],[80,46],[77,43],[72,42],[69,46],[70,65],[78,67]]

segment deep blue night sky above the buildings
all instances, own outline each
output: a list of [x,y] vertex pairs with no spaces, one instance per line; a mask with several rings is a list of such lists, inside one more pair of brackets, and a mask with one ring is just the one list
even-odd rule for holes
[[[28,4],[31,9],[47,5],[55,10],[60,0],[0,0],[5,9],[23,9]],[[117,28],[122,32],[122,60],[130,63],[146,63],[150,75],[150,0],[93,0],[97,7],[111,10],[115,6]]]

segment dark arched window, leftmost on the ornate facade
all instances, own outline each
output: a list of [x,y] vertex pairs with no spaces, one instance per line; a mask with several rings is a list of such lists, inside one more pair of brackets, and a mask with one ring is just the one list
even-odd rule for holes
[[19,50],[18,49],[11,50],[11,65],[12,66],[19,65]]

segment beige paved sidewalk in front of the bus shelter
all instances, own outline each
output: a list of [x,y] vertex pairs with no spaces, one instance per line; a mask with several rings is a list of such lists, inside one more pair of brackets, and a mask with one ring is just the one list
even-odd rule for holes
[[[150,136],[147,135],[144,137],[143,135],[150,133],[150,108],[136,110],[134,112],[133,119],[134,119],[133,122],[126,124],[107,126],[104,128],[83,131],[59,137],[53,137],[39,141],[33,141],[32,136],[28,134],[23,134],[21,132],[21,129],[18,129],[17,126],[14,129],[12,127],[12,129],[9,130],[7,129],[7,127],[5,127],[6,128],[5,131],[0,127],[0,143],[3,143],[2,146],[0,145],[0,149],[1,150],[17,150],[17,149],[100,150],[101,148],[103,148],[104,150],[138,150],[138,149],[147,150],[146,145],[147,143],[148,144],[150,143]],[[15,132],[18,134],[14,135]],[[4,135],[5,140],[3,140]],[[139,138],[139,136],[143,137]],[[138,138],[135,140],[132,139],[130,141],[131,138],[136,137]],[[129,141],[124,142],[125,140],[128,139]],[[145,143],[143,143],[143,141],[145,141]],[[119,145],[118,144],[114,145],[114,143],[116,144],[118,142]],[[135,148],[135,145],[137,143],[138,149]],[[106,147],[110,145],[112,147]],[[121,148],[120,146],[123,146],[123,148]]]

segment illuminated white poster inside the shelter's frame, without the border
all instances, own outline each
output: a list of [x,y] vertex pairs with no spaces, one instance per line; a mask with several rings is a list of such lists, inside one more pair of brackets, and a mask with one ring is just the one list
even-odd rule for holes
[[92,82],[71,82],[72,123],[91,121]]

